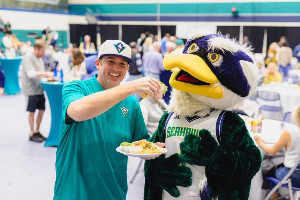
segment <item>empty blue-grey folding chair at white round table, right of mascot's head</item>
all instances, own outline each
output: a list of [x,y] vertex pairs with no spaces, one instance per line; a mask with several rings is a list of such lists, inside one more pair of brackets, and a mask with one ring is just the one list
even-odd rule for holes
[[278,106],[261,105],[259,107],[259,112],[261,110],[266,110],[266,111],[271,111],[271,112],[280,112],[281,116],[283,116],[280,95],[277,92],[257,91],[257,98],[264,100],[264,101],[278,103]]

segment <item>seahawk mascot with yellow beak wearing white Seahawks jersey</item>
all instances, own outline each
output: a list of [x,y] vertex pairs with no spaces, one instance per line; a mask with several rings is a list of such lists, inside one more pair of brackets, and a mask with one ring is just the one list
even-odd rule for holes
[[178,69],[152,141],[165,142],[168,152],[146,161],[144,199],[248,199],[262,158],[230,110],[256,87],[251,48],[221,34],[194,37],[164,67]]

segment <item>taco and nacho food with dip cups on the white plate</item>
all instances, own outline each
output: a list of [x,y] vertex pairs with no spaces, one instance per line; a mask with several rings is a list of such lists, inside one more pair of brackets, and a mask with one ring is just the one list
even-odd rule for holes
[[[137,142],[122,142],[121,143],[122,151],[131,153],[131,152],[138,152],[134,154],[156,154],[156,153],[163,153],[164,149],[156,146],[153,142],[149,142],[146,139],[139,140]],[[137,148],[132,147],[142,147],[140,148],[140,151],[138,151]]]

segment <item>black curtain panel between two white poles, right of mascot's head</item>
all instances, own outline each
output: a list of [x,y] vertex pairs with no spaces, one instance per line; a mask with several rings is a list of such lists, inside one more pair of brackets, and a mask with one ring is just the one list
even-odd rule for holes
[[263,34],[265,27],[244,26],[244,36],[248,36],[254,50],[253,53],[262,52]]

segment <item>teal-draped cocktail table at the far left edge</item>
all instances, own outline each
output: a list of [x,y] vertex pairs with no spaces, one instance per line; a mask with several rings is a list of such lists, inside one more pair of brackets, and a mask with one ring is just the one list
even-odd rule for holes
[[4,71],[4,93],[8,95],[20,92],[18,71],[22,58],[0,58],[1,69]]

